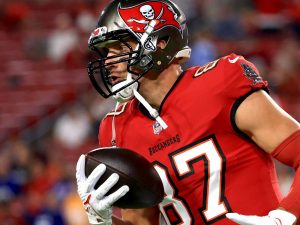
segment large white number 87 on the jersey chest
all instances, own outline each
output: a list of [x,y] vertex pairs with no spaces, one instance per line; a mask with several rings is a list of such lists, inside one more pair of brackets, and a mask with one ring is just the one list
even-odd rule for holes
[[[192,147],[175,151],[170,155],[172,165],[177,176],[184,179],[193,175],[193,164],[199,160],[204,160],[205,164],[205,184],[203,192],[203,208],[199,209],[201,217],[206,224],[211,224],[215,220],[224,217],[230,211],[230,207],[224,196],[222,186],[224,185],[225,158],[220,154],[216,147],[217,142],[214,138],[202,140]],[[159,208],[167,224],[188,225],[193,224],[186,204],[176,197],[172,183],[168,179],[167,170],[159,164],[154,168],[161,177],[165,190],[165,198],[160,203]],[[170,221],[167,211],[172,209],[177,215],[177,221]]]

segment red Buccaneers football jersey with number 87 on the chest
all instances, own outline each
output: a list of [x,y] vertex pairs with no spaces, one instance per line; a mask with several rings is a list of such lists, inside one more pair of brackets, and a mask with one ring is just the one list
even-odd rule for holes
[[167,224],[233,225],[227,212],[266,215],[281,199],[273,161],[234,123],[242,100],[266,88],[255,66],[234,54],[190,68],[159,109],[166,130],[134,99],[104,118],[100,146],[111,146],[114,117],[117,146],[146,157],[163,181]]

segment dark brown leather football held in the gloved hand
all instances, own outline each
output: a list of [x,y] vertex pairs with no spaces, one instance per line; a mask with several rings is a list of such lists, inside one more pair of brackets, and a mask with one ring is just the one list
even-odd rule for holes
[[164,197],[162,181],[153,165],[138,153],[124,148],[98,148],[86,154],[85,175],[91,174],[99,164],[106,165],[106,171],[98,180],[99,187],[112,173],[119,174],[119,181],[106,194],[123,185],[129,192],[114,203],[124,209],[148,208],[159,204]]

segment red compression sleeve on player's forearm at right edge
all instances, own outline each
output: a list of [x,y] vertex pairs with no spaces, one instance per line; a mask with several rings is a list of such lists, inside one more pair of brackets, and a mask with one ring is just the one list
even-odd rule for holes
[[279,161],[295,168],[296,173],[288,195],[279,203],[279,207],[300,216],[300,130],[284,140],[273,152]]

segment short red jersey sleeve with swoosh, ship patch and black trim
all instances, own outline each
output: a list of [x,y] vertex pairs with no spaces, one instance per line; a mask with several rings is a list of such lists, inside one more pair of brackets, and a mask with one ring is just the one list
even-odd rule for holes
[[[222,104],[222,119],[228,121],[230,129],[244,136],[235,123],[240,104],[253,92],[266,90],[268,83],[260,76],[258,69],[244,57],[231,54],[221,59],[218,77],[219,99]],[[221,83],[220,83],[221,82]],[[226,123],[227,124],[227,123]]]

